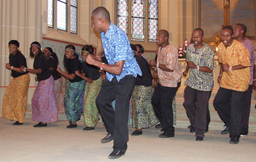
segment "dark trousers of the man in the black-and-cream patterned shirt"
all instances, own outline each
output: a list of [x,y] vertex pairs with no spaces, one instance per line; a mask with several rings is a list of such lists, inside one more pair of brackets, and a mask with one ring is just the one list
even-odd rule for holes
[[209,125],[210,95],[211,91],[197,90],[189,86],[186,86],[184,90],[183,106],[186,109],[187,117],[191,125],[193,125],[196,128],[196,136],[204,137],[204,131]]

